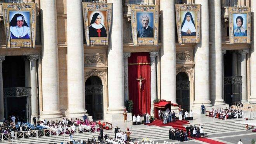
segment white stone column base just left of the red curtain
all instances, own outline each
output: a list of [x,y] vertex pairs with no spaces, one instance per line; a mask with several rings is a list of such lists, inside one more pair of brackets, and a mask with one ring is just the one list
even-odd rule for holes
[[[104,119],[108,120],[110,122],[118,122],[118,121],[124,121],[124,115],[123,113],[119,114],[111,114],[111,113],[106,113],[104,114]],[[127,122],[132,121],[131,113],[127,113]]]

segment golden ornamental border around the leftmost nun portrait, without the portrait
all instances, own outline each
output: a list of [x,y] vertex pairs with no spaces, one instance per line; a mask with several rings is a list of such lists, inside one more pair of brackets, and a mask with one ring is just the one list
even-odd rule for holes
[[[36,41],[36,4],[35,3],[2,3],[3,23],[5,26],[7,48],[35,48]],[[10,39],[9,11],[29,12],[30,14],[30,39]]]

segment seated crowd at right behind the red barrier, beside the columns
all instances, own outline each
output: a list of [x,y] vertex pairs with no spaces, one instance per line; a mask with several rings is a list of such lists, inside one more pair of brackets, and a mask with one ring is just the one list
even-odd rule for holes
[[236,108],[220,108],[220,109],[212,109],[211,111],[206,111],[209,113],[209,117],[221,118],[221,119],[230,119],[230,118],[242,118],[243,112],[242,110],[237,110]]

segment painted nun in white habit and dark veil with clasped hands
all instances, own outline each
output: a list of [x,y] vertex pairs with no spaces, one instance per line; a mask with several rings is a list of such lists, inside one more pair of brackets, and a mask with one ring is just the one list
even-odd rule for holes
[[195,23],[192,14],[187,12],[181,26],[182,36],[195,36],[195,31]]

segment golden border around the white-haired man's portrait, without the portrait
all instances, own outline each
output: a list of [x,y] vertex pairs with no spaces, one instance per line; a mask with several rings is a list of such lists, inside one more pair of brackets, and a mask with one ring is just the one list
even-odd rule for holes
[[[137,36],[137,12],[152,12],[154,19],[154,37],[138,38]],[[159,8],[158,5],[131,5],[131,30],[133,45],[158,45]]]

